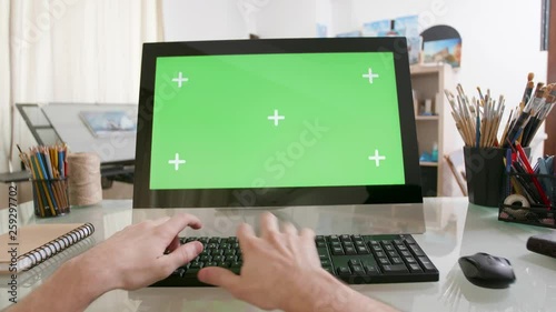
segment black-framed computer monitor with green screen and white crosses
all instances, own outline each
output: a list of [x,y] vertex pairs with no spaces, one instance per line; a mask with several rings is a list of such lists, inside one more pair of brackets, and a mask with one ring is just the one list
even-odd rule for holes
[[421,203],[405,38],[146,43],[135,208]]

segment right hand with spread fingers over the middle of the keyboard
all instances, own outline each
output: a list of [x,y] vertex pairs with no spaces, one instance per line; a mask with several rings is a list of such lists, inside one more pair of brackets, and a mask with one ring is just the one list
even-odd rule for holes
[[260,227],[260,238],[248,224],[238,228],[244,258],[240,275],[208,266],[199,271],[198,278],[261,309],[287,310],[286,304],[297,295],[298,289],[310,285],[315,276],[330,274],[320,266],[311,230],[298,232],[292,224],[285,223],[280,231],[278,220],[271,213],[261,215]]

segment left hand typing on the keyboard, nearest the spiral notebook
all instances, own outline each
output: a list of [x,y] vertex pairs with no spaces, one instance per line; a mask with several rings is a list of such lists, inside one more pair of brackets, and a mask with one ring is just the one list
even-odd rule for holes
[[140,289],[170,275],[202,251],[197,241],[180,245],[178,234],[186,227],[197,230],[201,222],[182,213],[132,224],[79,255],[77,261],[103,276],[100,281],[108,290]]

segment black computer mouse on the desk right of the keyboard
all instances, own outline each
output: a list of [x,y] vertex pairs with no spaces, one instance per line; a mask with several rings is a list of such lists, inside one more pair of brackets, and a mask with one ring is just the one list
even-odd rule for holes
[[516,275],[509,261],[485,252],[459,258],[459,268],[469,282],[488,289],[505,289],[514,283]]

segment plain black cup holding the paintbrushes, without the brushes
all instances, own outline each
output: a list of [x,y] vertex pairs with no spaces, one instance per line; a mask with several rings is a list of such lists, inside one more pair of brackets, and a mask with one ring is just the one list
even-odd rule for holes
[[504,185],[506,149],[464,147],[469,202],[498,208]]

